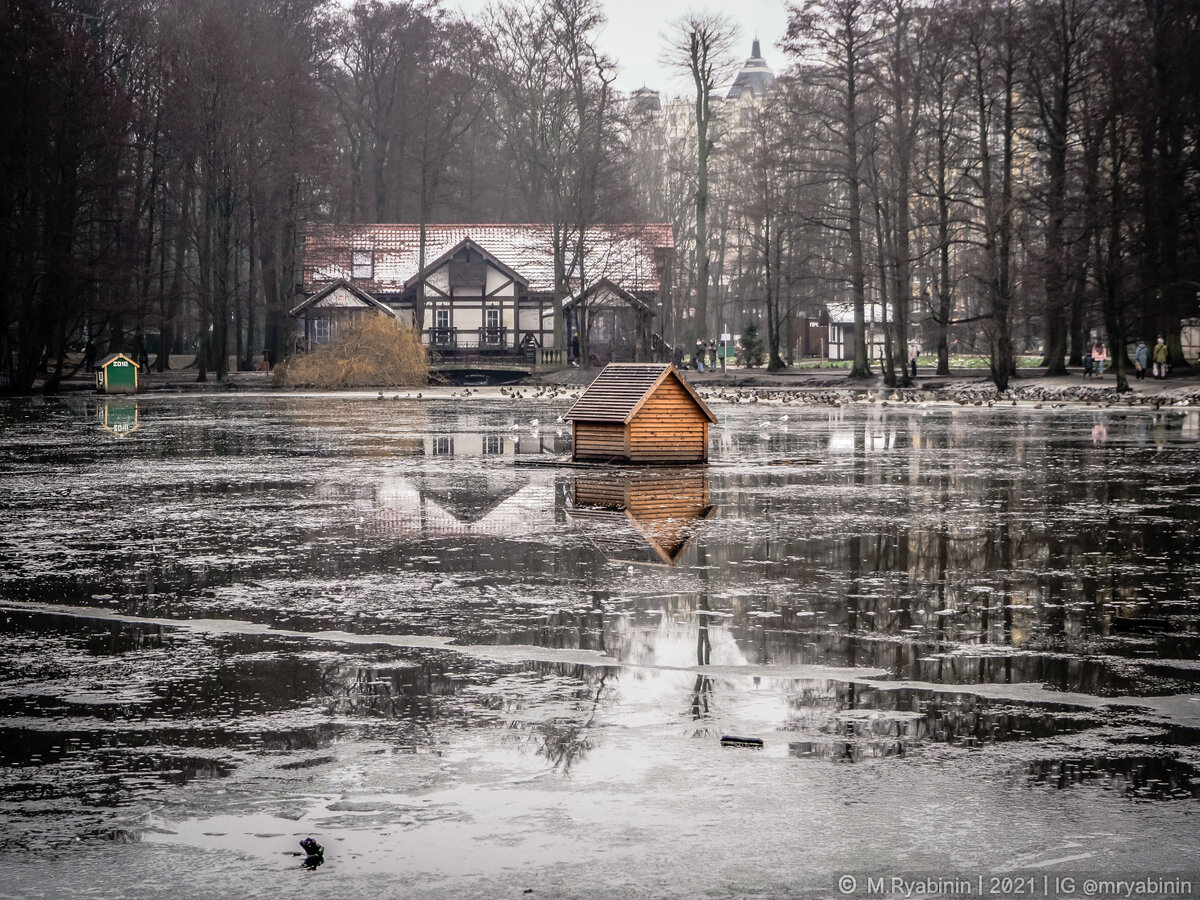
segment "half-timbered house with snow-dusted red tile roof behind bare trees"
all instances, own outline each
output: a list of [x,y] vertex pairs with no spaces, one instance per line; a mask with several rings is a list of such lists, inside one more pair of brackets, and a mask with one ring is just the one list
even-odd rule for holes
[[[419,322],[440,354],[527,355],[554,347],[553,238],[548,224],[430,224],[422,248],[418,224],[314,223],[301,288],[311,299],[330,284],[353,286],[398,320]],[[601,361],[649,358],[673,246],[670,224],[596,226],[583,259],[568,259],[566,308],[588,311],[571,318],[588,323],[589,336],[604,332]],[[310,308],[298,304],[293,314]]]

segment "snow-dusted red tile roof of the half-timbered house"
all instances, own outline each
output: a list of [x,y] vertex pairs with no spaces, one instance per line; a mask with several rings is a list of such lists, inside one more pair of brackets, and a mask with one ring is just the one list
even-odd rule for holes
[[[433,262],[466,239],[520,272],[533,293],[554,289],[554,263],[548,224],[430,224],[425,227],[425,260]],[[626,290],[659,289],[662,258],[674,247],[671,226],[595,226],[587,240],[586,276],[608,278]],[[364,290],[401,292],[418,271],[420,226],[310,223],[305,235],[305,290],[317,290],[337,278],[350,280],[350,252],[374,251],[373,277],[355,278]]]

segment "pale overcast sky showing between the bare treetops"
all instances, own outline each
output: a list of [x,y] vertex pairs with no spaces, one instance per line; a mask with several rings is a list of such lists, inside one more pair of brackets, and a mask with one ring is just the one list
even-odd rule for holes
[[[458,6],[476,13],[487,0],[446,0],[446,6]],[[725,12],[738,23],[740,34],[737,55],[750,55],[755,35],[762,42],[762,55],[775,74],[784,70],[784,58],[775,43],[787,29],[787,7],[784,0],[737,0],[728,6],[703,5],[689,0],[601,0],[608,24],[600,36],[601,48],[620,67],[617,86],[631,91],[642,85],[664,94],[682,94],[685,88],[661,62],[665,41],[662,35],[671,23],[689,11]]]

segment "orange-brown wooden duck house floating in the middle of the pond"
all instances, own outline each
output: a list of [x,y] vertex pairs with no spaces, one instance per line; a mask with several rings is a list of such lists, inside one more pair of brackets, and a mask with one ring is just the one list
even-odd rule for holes
[[575,461],[708,462],[716,416],[670,364],[612,362],[563,416]]

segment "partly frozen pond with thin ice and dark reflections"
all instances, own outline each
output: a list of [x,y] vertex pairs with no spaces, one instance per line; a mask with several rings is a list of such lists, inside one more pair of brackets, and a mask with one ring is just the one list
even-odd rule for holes
[[0,403],[0,895],[1200,893],[1200,412],[449,392]]

